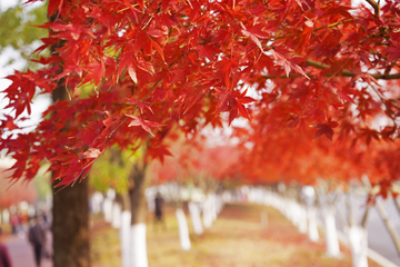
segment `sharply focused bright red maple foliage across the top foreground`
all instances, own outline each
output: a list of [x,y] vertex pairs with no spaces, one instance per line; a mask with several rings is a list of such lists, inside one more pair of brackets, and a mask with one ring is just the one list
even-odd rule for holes
[[[400,78],[399,11],[397,1],[373,13],[351,1],[50,0],[56,20],[42,26],[50,33],[37,51],[54,52],[38,60],[41,70],[9,77],[16,113],[1,132],[29,111],[36,88],[46,93],[62,83],[71,100],[56,102],[34,132],[3,139],[0,149],[17,159],[14,178],[32,178],[47,158],[67,185],[109,146],[146,142],[162,159],[170,129],[221,126],[226,111],[229,122],[257,117],[254,147],[262,136],[287,128],[303,136],[309,126],[310,139],[398,138],[398,82],[377,80]],[[81,98],[87,82],[94,92]],[[249,87],[259,99],[250,110]],[[384,129],[371,126],[379,116],[390,120]]]

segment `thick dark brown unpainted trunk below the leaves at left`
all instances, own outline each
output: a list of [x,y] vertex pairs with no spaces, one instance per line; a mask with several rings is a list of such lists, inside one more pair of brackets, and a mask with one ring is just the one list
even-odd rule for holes
[[[60,191],[53,188],[54,267],[90,266],[88,178]],[[56,191],[58,191],[56,194]]]

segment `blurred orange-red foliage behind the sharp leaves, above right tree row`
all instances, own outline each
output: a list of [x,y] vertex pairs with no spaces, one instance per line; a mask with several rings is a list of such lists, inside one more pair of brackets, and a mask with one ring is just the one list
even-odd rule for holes
[[316,137],[330,136],[330,130],[339,127],[337,122],[328,120],[318,125],[316,135],[314,126],[301,123],[298,126],[303,127],[301,131],[297,128],[280,131],[277,125],[287,121],[280,121],[274,113],[267,117],[256,117],[253,121],[258,123],[237,130],[242,155],[241,165],[234,166],[234,171],[247,177],[248,182],[316,185],[324,179],[333,186],[343,186],[356,180],[362,184],[361,178],[367,175],[373,186],[380,186],[379,195],[396,194],[392,182],[400,178],[399,139],[366,140],[362,136],[349,135],[348,139],[338,138],[332,142]]

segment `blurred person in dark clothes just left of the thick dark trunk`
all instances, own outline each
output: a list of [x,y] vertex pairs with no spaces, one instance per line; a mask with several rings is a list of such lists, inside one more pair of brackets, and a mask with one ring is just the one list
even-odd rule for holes
[[29,228],[28,239],[33,247],[34,261],[37,266],[40,267],[42,249],[46,243],[46,230],[41,224],[42,221],[40,216],[36,216],[33,222],[34,224],[32,224],[31,227]]

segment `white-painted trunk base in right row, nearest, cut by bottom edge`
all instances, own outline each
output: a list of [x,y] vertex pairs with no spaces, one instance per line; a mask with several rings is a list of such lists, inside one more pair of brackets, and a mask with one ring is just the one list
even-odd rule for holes
[[367,229],[359,226],[349,228],[349,241],[353,267],[368,267]]

